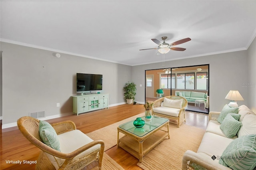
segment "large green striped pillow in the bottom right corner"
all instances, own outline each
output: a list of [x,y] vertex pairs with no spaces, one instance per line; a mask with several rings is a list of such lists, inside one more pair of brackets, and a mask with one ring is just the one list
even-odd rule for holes
[[219,164],[233,170],[253,170],[256,167],[256,134],[236,138],[222,153]]

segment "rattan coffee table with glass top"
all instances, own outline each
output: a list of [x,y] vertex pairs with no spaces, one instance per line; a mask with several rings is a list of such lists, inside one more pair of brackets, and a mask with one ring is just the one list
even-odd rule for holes
[[[143,156],[160,143],[169,134],[169,119],[153,116],[150,122],[145,120],[142,128],[136,128],[133,121],[117,127],[117,146],[123,148],[142,162]],[[119,132],[124,136],[119,138]]]

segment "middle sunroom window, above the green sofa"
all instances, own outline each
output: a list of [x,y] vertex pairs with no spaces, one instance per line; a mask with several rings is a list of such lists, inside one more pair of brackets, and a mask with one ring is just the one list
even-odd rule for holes
[[177,89],[195,89],[195,73],[178,73]]

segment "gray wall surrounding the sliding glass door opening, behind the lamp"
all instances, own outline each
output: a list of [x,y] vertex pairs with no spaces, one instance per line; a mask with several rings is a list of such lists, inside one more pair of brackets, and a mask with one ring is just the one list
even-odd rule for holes
[[[168,59],[167,56],[165,58]],[[162,56],[159,58],[159,61],[161,60]],[[248,93],[250,93],[250,91],[248,92],[247,89],[243,88],[241,85],[248,80],[247,51],[166,61],[165,66],[162,66],[162,62],[133,66],[132,79],[134,83],[143,85],[143,88],[139,88],[137,91],[136,99],[138,101],[145,100],[144,70],[202,64],[210,64],[210,111],[221,111],[223,106],[230,102],[225,99],[230,90],[238,90],[244,98],[244,101],[238,101],[238,105],[248,104]]]

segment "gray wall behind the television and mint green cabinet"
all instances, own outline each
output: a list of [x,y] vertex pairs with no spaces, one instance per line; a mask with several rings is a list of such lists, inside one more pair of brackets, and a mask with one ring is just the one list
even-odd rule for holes
[[[46,117],[72,113],[76,73],[103,75],[109,104],[124,103],[124,84],[132,80],[132,67],[106,61],[1,42],[2,123],[16,123],[29,113],[45,111]],[[56,107],[60,103],[60,107]]]

